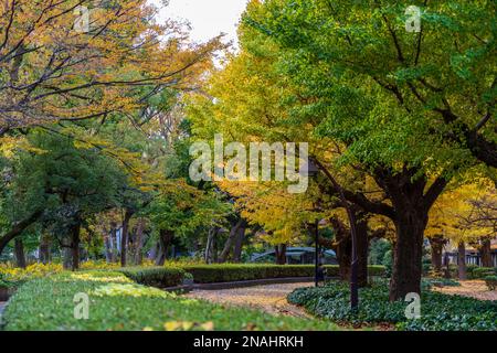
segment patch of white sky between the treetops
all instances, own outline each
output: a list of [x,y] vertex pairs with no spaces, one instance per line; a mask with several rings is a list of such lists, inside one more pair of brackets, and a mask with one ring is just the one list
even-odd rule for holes
[[[149,0],[160,6],[161,0]],[[160,19],[188,20],[192,26],[191,39],[205,42],[220,33],[236,41],[236,25],[247,0],[170,0],[160,12]]]

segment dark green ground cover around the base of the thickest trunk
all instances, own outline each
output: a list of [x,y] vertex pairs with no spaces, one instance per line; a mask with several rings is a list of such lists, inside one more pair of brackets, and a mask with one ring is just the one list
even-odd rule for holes
[[385,282],[359,291],[359,310],[349,304],[347,284],[332,282],[321,288],[300,288],[288,296],[292,303],[305,307],[317,317],[352,324],[395,324],[408,331],[495,331],[497,301],[448,296],[423,290],[421,319],[408,320],[404,301],[390,302]]

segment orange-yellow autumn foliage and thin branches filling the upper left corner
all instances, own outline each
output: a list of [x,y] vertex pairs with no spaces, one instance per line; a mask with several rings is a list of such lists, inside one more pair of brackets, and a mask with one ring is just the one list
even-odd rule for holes
[[[0,136],[38,124],[127,114],[165,87],[192,86],[219,40],[187,45],[181,26],[158,25],[155,13],[145,0],[3,1]],[[139,95],[140,87],[148,89]]]

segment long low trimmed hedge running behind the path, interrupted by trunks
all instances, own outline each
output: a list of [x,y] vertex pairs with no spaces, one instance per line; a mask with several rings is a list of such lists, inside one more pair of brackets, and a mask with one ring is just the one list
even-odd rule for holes
[[[181,266],[187,272],[193,275],[197,284],[231,282],[241,280],[314,277],[313,265],[186,265]],[[325,266],[328,277],[338,277],[339,267]],[[384,276],[383,266],[370,266],[370,276]]]

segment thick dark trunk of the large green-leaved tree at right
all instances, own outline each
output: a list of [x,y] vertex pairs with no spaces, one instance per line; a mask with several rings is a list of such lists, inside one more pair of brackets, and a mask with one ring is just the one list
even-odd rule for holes
[[[414,207],[413,207],[414,208]],[[396,242],[393,253],[390,300],[404,300],[408,293],[421,293],[423,236],[427,212],[404,210],[395,222]]]

